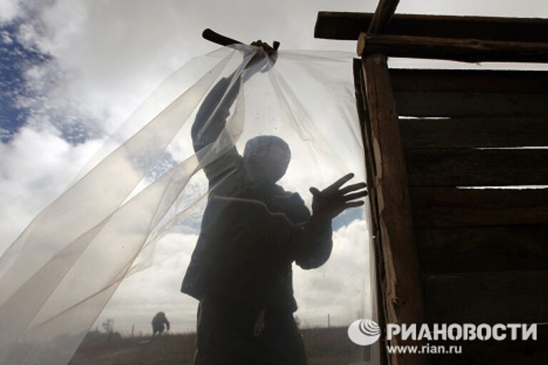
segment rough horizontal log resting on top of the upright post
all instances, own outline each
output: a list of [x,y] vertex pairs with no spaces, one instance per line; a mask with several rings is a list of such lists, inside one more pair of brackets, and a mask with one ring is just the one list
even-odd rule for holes
[[484,41],[360,34],[359,56],[382,53],[390,57],[431,58],[465,62],[548,62],[548,42]]

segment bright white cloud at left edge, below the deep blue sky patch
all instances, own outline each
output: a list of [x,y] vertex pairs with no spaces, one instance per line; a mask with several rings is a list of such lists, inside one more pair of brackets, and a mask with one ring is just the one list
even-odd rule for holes
[[73,146],[50,130],[31,128],[0,144],[0,252],[63,192],[97,148],[96,140]]

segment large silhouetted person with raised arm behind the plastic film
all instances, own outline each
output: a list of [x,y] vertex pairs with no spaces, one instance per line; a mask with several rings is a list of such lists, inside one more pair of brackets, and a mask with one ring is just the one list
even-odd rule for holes
[[[253,45],[273,53],[265,43]],[[244,81],[260,62],[255,57],[246,66]],[[198,110],[192,138],[203,160],[203,148],[225,128],[239,81],[219,81]],[[204,168],[210,194],[181,288],[200,301],[196,365],[306,364],[293,318],[292,263],[303,269],[324,264],[333,245],[332,218],[362,205],[355,200],[366,192],[364,183],[341,188],[352,174],[322,192],[311,188],[310,215],[297,193],[276,185],[290,157],[284,140],[263,135],[248,140],[243,156],[232,146]]]

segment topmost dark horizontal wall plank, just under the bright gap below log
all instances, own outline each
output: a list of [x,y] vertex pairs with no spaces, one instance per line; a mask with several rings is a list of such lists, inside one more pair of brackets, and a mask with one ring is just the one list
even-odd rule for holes
[[391,68],[392,90],[548,94],[548,71]]

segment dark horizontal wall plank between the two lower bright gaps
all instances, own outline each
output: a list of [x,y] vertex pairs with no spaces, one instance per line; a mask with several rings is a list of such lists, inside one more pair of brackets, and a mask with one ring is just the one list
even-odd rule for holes
[[410,148],[409,184],[548,185],[548,149]]

